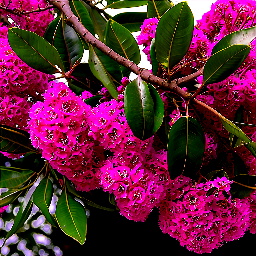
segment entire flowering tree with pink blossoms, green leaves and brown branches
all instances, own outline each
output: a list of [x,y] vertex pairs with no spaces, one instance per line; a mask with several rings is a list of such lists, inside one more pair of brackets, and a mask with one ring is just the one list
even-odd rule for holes
[[187,1],[106,2],[0,1],[1,152],[16,159],[1,212],[23,196],[5,241],[33,205],[81,245],[86,207],[133,221],[158,207],[199,254],[255,234],[255,1],[217,1],[195,27]]

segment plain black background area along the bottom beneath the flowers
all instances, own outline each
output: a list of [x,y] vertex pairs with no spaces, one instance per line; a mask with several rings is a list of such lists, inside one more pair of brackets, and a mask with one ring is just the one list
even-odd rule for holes
[[[199,255],[181,247],[158,225],[159,209],[154,208],[145,222],[135,222],[119,211],[88,207],[87,238],[83,246],[60,231],[49,235],[63,255]],[[201,255],[256,255],[256,235],[246,231],[238,240],[225,243],[211,253]]]

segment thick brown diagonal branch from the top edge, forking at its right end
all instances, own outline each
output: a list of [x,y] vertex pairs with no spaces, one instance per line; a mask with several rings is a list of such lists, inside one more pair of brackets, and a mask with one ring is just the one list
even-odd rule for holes
[[111,59],[116,61],[118,64],[128,68],[130,71],[132,71],[136,75],[140,75],[143,80],[155,85],[156,87],[160,87],[163,90],[167,90],[167,91],[176,93],[177,95],[181,96],[185,100],[187,100],[191,97],[191,94],[183,91],[179,87],[179,85],[182,85],[184,83],[192,81],[199,75],[202,75],[201,71],[197,71],[196,73],[191,74],[187,77],[175,79],[175,80],[171,81],[170,83],[167,83],[167,81],[165,79],[153,75],[147,69],[138,67],[135,63],[133,63],[132,61],[129,61],[128,59],[125,59],[121,55],[115,53],[107,45],[105,45],[104,43],[99,41],[97,38],[95,38],[83,26],[83,24],[79,21],[78,17],[76,17],[74,15],[74,13],[71,11],[71,8],[69,6],[69,1],[67,1],[67,0],[57,0],[57,1],[48,0],[48,2],[55,5],[60,11],[65,13],[69,23],[71,23],[73,25],[75,31],[77,31],[77,33],[79,33],[79,35],[81,35],[81,37],[83,37],[83,39],[85,39],[85,41],[87,43],[89,43],[93,47],[99,49],[101,52],[103,52],[105,55],[109,56]]

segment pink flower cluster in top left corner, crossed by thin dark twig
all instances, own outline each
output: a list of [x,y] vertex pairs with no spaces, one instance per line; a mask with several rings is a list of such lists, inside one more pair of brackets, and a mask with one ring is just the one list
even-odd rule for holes
[[[9,0],[0,0],[0,5],[6,7],[9,3]],[[44,0],[12,0],[8,9],[13,11],[31,11],[40,8],[45,8],[49,5],[47,1]],[[51,9],[53,11],[53,9]],[[45,29],[49,23],[54,19],[54,14],[50,10],[45,10],[41,12],[29,13],[28,15],[21,15],[21,17],[9,13],[7,11],[1,10],[1,16],[8,19],[10,17],[13,22],[14,27],[20,29],[29,30],[36,33],[37,35],[43,36]]]

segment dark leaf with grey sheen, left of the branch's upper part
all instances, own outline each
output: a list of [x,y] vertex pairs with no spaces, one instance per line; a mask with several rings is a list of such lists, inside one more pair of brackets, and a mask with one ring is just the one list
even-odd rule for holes
[[76,33],[76,31],[66,25],[64,22],[63,16],[61,19],[62,29],[63,29],[63,36],[65,39],[65,45],[67,47],[67,53],[69,56],[69,68],[71,69],[76,61],[80,62],[83,57],[83,43],[81,41],[80,36]]

